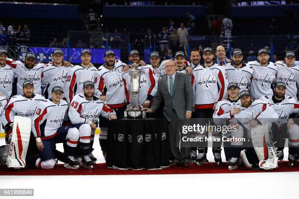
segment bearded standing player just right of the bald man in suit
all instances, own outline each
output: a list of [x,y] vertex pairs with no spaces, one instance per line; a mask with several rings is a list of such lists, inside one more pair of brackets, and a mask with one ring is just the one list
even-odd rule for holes
[[235,82],[239,91],[250,88],[253,68],[252,66],[242,63],[243,54],[241,49],[235,48],[232,54],[232,62],[224,65],[224,69],[229,82]]

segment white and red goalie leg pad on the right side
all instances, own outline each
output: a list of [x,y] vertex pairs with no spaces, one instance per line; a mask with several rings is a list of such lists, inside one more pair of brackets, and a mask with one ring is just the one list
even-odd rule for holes
[[259,159],[258,166],[265,170],[278,167],[277,151],[271,139],[270,129],[270,121],[263,125],[257,124],[251,129],[252,144]]

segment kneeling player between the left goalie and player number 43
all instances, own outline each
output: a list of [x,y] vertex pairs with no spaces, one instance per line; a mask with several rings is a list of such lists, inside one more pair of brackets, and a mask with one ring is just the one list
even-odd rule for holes
[[55,165],[55,144],[64,143],[64,154],[67,162],[79,165],[74,159],[75,148],[78,144],[79,134],[62,126],[68,105],[62,100],[63,88],[52,88],[52,99],[43,100],[38,104],[32,119],[32,132],[36,138],[36,146],[39,150],[39,158],[28,159],[28,166],[52,169]]

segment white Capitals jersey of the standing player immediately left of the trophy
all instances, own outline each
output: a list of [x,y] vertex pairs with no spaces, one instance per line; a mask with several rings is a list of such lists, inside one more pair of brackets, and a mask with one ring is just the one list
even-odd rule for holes
[[95,73],[94,95],[97,97],[107,96],[107,106],[113,109],[126,105],[125,86],[122,78],[123,68],[123,62],[116,60],[112,70],[107,69],[104,64]]

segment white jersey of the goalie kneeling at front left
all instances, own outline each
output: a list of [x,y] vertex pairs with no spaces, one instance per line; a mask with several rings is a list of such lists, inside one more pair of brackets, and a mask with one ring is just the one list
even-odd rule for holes
[[7,103],[1,116],[1,122],[6,124],[14,122],[14,116],[32,118],[37,105],[45,100],[41,95],[34,95],[33,98],[25,98],[22,95],[13,96]]

